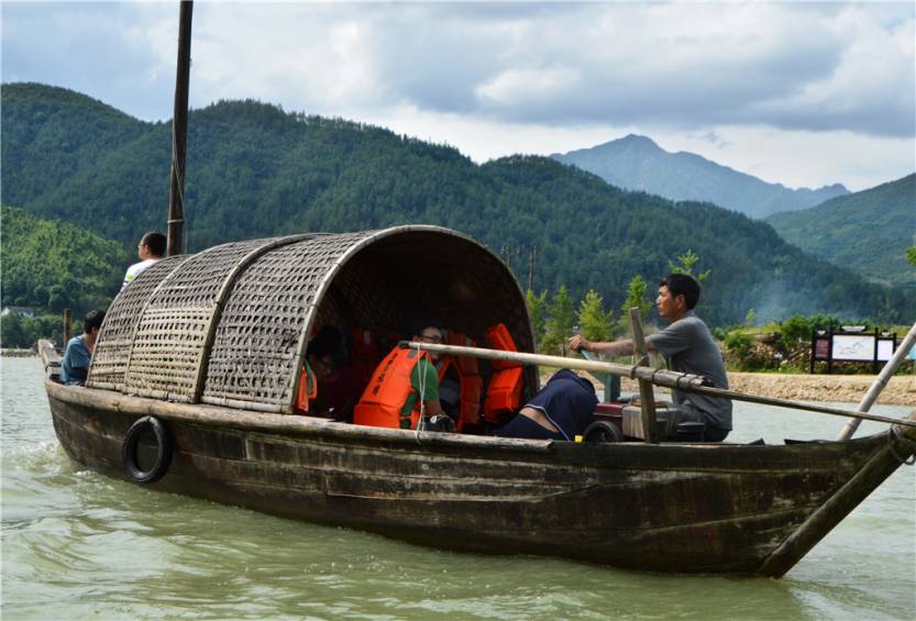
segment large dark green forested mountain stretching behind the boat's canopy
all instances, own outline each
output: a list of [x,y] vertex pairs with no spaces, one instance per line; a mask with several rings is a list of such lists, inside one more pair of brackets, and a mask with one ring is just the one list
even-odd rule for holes
[[[129,248],[145,230],[165,229],[168,124],[119,117],[62,89],[2,88],[4,201],[19,197],[32,213],[79,223]],[[92,156],[62,155],[58,165],[54,149],[30,136],[45,135],[48,119],[70,114],[82,118],[73,129],[79,135],[67,136],[62,124],[54,129],[58,142],[80,144]],[[115,135],[106,119],[130,127],[118,124]],[[20,123],[29,127],[5,133]],[[92,123],[106,132],[87,135]],[[478,166],[454,148],[254,101],[191,112],[185,196],[190,251],[277,233],[433,223],[497,252],[536,245],[534,289],[566,285],[578,299],[592,287],[611,308],[633,276],[655,282],[688,249],[700,257],[697,269],[711,270],[700,310],[717,324],[740,322],[749,309],[761,320],[835,313],[895,321],[914,303],[809,258],[766,224],[711,204],[675,208],[544,157]],[[526,281],[527,257],[512,260]]]

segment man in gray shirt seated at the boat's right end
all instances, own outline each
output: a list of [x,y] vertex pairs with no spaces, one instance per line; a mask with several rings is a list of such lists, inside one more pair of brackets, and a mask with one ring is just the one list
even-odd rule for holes
[[[685,274],[669,274],[659,284],[655,308],[671,325],[645,337],[649,351],[661,352],[671,370],[707,377],[716,388],[728,388],[722,356],[709,329],[693,309],[699,301],[699,282]],[[570,340],[573,350],[623,356],[633,353],[630,340],[593,343],[582,336]],[[721,442],[731,431],[731,401],[673,389],[672,398],[686,412],[686,420],[706,424],[704,437]]]

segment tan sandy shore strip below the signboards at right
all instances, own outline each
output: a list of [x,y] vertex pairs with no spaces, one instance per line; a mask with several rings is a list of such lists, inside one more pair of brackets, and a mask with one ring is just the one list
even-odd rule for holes
[[[728,384],[732,390],[763,397],[796,401],[858,403],[876,377],[875,375],[729,373]],[[634,381],[623,379],[621,390],[623,392],[637,392],[639,388]],[[892,377],[878,397],[878,403],[913,406],[916,408],[916,376]]]

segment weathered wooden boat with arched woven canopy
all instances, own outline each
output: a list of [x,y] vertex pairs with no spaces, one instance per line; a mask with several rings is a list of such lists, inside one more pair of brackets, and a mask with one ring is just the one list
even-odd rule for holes
[[[141,452],[174,448],[150,484],[163,491],[446,548],[766,576],[787,572],[916,446],[902,425],[843,442],[652,445],[293,414],[318,328],[397,332],[417,309],[478,342],[503,321],[532,348],[511,273],[454,231],[298,235],[170,257],[114,300],[87,387],[46,380],[54,428],[74,461],[130,478],[129,430],[154,417],[163,435]],[[533,368],[525,378],[537,389]]]

